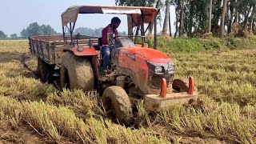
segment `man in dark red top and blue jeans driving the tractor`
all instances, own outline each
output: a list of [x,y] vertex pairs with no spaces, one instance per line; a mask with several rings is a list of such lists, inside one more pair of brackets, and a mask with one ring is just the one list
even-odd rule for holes
[[118,40],[118,26],[121,20],[118,17],[111,19],[111,23],[102,30],[102,54],[103,54],[103,74],[107,73],[110,61],[110,54],[114,48],[114,40]]

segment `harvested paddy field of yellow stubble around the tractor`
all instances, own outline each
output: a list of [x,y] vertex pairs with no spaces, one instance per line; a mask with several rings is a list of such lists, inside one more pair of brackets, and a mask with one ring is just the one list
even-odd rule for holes
[[28,48],[0,41],[0,142],[256,142],[256,49],[169,54],[175,78],[195,78],[198,104],[154,113],[140,101],[126,127],[106,118],[96,91],[40,82]]

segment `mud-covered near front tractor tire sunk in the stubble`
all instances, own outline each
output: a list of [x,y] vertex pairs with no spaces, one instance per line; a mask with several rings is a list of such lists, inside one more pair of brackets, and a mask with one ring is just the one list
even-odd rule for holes
[[113,117],[120,124],[129,125],[133,113],[129,96],[121,86],[110,86],[104,90],[102,103],[108,117]]

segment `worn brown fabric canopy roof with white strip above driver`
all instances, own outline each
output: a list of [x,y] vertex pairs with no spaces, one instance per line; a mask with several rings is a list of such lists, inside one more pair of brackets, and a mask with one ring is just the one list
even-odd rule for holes
[[154,22],[158,10],[154,7],[138,6],[70,6],[62,13],[62,27],[69,22],[75,23],[78,14],[129,14],[133,26],[139,26],[143,22]]

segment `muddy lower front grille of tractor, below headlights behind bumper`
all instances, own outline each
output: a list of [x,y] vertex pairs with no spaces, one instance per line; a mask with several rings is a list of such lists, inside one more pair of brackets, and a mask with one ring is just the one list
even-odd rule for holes
[[151,79],[151,86],[154,89],[161,89],[161,80],[162,78],[166,78],[167,86],[169,87],[173,82],[174,75],[154,75]]

